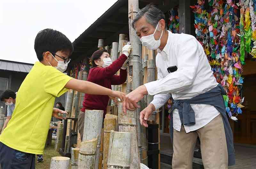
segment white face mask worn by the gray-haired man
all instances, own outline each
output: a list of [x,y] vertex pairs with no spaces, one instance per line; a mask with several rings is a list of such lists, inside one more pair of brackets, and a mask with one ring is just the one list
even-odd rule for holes
[[[156,29],[157,29],[158,25],[159,25],[159,22],[156,26]],[[156,50],[160,46],[161,37],[163,35],[164,30],[162,30],[162,33],[161,33],[161,36],[160,36],[159,40],[156,40],[155,37],[154,37],[154,35],[156,33],[156,29],[155,29],[153,34],[148,35],[148,36],[142,36],[140,38],[142,46],[146,46],[149,50]]]

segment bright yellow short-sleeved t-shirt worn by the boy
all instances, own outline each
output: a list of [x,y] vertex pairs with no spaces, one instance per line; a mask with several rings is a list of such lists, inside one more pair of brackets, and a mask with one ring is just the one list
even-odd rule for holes
[[72,78],[52,66],[36,62],[17,93],[12,119],[0,142],[12,149],[43,154],[55,97],[64,94]]

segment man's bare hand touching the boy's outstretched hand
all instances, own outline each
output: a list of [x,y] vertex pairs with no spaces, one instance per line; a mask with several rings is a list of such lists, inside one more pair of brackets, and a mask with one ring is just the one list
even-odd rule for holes
[[147,94],[147,88],[142,85],[126,95],[123,102],[124,114],[126,114],[126,109],[134,111],[136,108],[140,108],[140,105],[138,105],[137,103],[144,97],[144,95]]

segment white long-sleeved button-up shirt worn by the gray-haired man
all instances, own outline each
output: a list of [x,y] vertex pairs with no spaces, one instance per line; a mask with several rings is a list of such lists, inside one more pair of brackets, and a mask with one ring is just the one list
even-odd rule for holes
[[[177,66],[178,70],[168,73],[167,68]],[[205,93],[218,85],[202,45],[192,35],[172,34],[164,49],[157,50],[157,81],[146,83],[149,95],[155,95],[151,102],[156,109],[162,107],[172,96],[173,100],[190,99]],[[212,105],[191,104],[195,111],[196,124],[184,126],[186,133],[204,127],[220,112]],[[180,131],[181,122],[177,109],[173,111],[173,128]]]

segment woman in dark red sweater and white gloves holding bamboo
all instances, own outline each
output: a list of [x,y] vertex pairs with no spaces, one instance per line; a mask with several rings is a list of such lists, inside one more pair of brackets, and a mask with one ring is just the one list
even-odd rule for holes
[[[90,69],[87,81],[96,83],[100,86],[111,89],[111,85],[120,85],[126,81],[127,78],[127,57],[131,52],[131,45],[123,47],[123,54],[112,63],[108,51],[100,49],[92,54],[92,69]],[[115,75],[120,70],[120,75]],[[84,112],[85,110],[103,110],[105,114],[108,106],[108,96],[104,95],[89,95],[85,94],[83,108],[78,116],[78,130],[83,140],[84,133]]]

